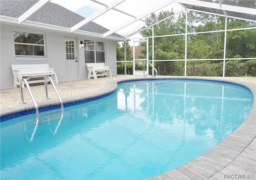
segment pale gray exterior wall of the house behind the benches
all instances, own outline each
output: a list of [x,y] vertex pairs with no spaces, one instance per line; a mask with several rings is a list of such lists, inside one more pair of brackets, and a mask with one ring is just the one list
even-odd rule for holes
[[[13,32],[44,34],[45,57],[16,57]],[[88,76],[84,60],[84,48],[80,41],[95,40],[105,43],[105,64],[109,65],[112,75],[116,75],[116,42],[103,38],[86,37],[77,34],[28,28],[11,24],[0,24],[0,89],[13,87],[12,64],[49,64],[57,73],[58,81],[67,81],[65,39],[75,38],[76,57],[78,60],[78,79]]]

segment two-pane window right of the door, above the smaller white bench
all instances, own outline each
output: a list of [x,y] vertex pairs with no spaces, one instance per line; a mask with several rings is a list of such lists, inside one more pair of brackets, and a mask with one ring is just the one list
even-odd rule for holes
[[84,40],[85,63],[105,63],[104,42]]

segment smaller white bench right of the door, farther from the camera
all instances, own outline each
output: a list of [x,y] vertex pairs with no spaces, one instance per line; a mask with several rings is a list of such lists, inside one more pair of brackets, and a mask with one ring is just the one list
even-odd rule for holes
[[104,63],[86,63],[88,69],[88,79],[94,77],[97,79],[97,76],[110,76],[112,77],[111,69],[108,65]]

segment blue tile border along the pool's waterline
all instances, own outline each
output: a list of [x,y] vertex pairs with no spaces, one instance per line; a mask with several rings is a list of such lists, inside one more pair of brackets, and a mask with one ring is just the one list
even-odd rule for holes
[[[240,85],[237,83],[231,83],[231,82],[227,82],[227,81],[218,81],[218,80],[210,80],[210,79],[190,79],[190,78],[154,78],[154,79],[129,79],[129,80],[122,80],[117,82],[118,84],[122,84],[122,83],[128,83],[128,82],[136,82],[136,81],[204,81],[204,82],[214,82],[214,83],[222,83],[222,84],[228,84],[228,85],[234,85],[234,86],[238,86],[241,88],[244,88],[246,90],[248,90],[250,92],[250,94],[253,97],[252,92],[250,91],[250,89],[244,85]],[[75,106],[75,105],[80,105],[80,104],[84,104],[84,103],[88,103],[91,101],[96,101],[98,99],[102,99],[104,97],[107,97],[109,95],[111,95],[112,93],[114,93],[116,91],[116,89],[114,91],[110,91],[109,93],[106,93],[104,95],[99,95],[96,97],[92,97],[92,98],[87,98],[87,99],[82,99],[82,100],[78,100],[78,101],[74,101],[74,102],[70,102],[70,103],[64,103],[64,107],[70,107],[70,106]],[[72,98],[72,97],[71,97]],[[39,108],[39,112],[44,112],[44,111],[51,111],[54,109],[59,109],[60,105],[52,105],[49,107],[42,107]],[[9,115],[5,115],[2,116],[0,119],[0,122],[4,122],[4,121],[8,121],[10,119],[14,119],[17,117],[22,117],[25,115],[30,115],[30,114],[35,114],[36,110],[35,109],[30,109],[30,110],[26,110],[26,111],[22,111],[22,112],[18,112],[18,113],[13,113],[13,114],[9,114]]]

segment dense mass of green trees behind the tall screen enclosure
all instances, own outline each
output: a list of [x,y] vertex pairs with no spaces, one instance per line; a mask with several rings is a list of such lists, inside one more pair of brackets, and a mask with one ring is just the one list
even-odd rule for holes
[[[159,20],[166,20],[154,25],[154,36],[174,35],[185,33],[185,13],[170,17],[171,11],[162,11],[158,15],[151,14],[146,18],[147,22],[155,24]],[[170,18],[168,18],[170,17]],[[222,59],[224,58],[224,32],[225,17],[200,12],[188,11],[188,35],[187,59]],[[142,27],[148,27],[149,24]],[[228,30],[256,27],[256,22],[248,22],[228,18]],[[198,34],[198,32],[208,32]],[[144,37],[152,36],[152,28],[141,32]],[[146,43],[141,52],[146,55]],[[166,36],[154,38],[154,59],[172,60],[185,58],[185,36]],[[149,38],[149,60],[152,60],[152,38]],[[226,58],[250,58],[256,57],[256,29],[228,31],[226,36]],[[200,65],[202,64],[202,65]],[[184,62],[157,61],[162,75],[184,75]],[[245,72],[255,74],[254,61],[226,61],[227,76],[240,76]],[[191,66],[191,67],[190,67]],[[252,67],[250,67],[252,66]],[[221,67],[221,68],[220,68]],[[200,69],[202,68],[202,70]],[[196,72],[198,71],[198,72]],[[223,72],[222,60],[211,61],[187,61],[187,73],[190,75],[221,76]]]

